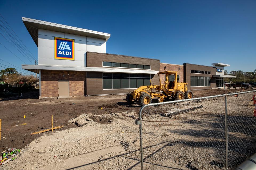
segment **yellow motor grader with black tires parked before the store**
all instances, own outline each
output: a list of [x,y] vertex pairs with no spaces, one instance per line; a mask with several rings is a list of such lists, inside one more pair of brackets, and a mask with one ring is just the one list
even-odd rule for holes
[[[177,82],[177,71],[163,71],[159,72],[159,85],[140,86],[136,90],[126,95],[126,100],[129,104],[137,103],[140,105],[150,104],[154,97],[158,98],[159,102],[169,99],[175,100],[191,99],[193,93],[187,90],[187,83]],[[165,82],[161,84],[160,74],[165,75]],[[174,75],[174,81],[170,81],[170,75]]]

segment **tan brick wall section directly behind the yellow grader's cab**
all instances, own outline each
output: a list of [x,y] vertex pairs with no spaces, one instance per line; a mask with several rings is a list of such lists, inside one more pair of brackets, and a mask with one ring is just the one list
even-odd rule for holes
[[[166,69],[165,69],[166,67]],[[180,70],[179,70],[180,68]],[[179,82],[184,82],[184,66],[183,65],[175,65],[175,64],[167,64],[167,63],[160,63],[160,72],[162,71],[177,71],[179,75]],[[161,74],[161,83],[165,81],[165,75]]]

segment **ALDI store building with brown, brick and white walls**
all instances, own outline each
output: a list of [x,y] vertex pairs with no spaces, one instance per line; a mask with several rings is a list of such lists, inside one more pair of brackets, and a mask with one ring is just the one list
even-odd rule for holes
[[[125,94],[149,85],[150,80],[159,84],[157,73],[165,70],[178,71],[179,82],[188,82],[191,90],[213,88],[216,78],[223,80],[223,74],[215,72],[216,68],[223,69],[222,63],[214,63],[213,67],[174,65],[157,59],[107,54],[108,33],[30,18],[22,21],[38,46],[38,65],[22,65],[22,68],[39,74],[40,98]],[[192,81],[195,75],[197,81]],[[161,82],[165,79],[162,75],[160,78]]]

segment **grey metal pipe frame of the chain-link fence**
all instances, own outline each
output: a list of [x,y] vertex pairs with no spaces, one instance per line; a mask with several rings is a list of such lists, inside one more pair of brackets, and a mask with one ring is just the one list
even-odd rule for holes
[[230,94],[223,94],[223,95],[215,95],[215,96],[206,96],[206,97],[197,97],[197,98],[192,98],[192,99],[183,99],[183,100],[174,100],[174,101],[164,101],[164,102],[159,102],[159,103],[150,103],[147,105],[144,105],[141,107],[139,111],[139,138],[140,138],[140,162],[141,162],[141,170],[143,170],[143,141],[142,141],[142,111],[144,108],[149,107],[149,106],[158,106],[158,105],[163,105],[163,104],[171,104],[171,103],[179,103],[183,101],[191,101],[191,100],[200,100],[200,99],[209,99],[213,97],[225,97],[225,137],[226,137],[226,169],[228,169],[228,122],[227,122],[227,96],[231,95],[238,95],[238,94],[245,94],[245,93],[250,93],[250,92],[256,92],[256,90],[251,90],[251,91],[245,91],[245,92],[237,92],[237,93],[230,93]]

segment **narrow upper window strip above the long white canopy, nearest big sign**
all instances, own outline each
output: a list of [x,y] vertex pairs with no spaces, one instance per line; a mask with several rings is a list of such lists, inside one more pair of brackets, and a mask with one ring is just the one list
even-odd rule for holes
[[123,68],[134,68],[134,69],[148,69],[150,70],[150,65],[141,65],[141,64],[128,64],[128,63],[116,63],[116,62],[102,62],[104,67],[123,67]]

